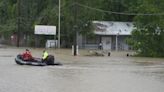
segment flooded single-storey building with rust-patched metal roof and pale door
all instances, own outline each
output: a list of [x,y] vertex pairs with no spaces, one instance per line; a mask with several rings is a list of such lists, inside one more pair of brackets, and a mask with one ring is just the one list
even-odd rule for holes
[[87,49],[98,49],[102,43],[103,50],[129,50],[125,39],[130,37],[134,25],[132,22],[93,21],[95,39],[81,38],[79,46]]

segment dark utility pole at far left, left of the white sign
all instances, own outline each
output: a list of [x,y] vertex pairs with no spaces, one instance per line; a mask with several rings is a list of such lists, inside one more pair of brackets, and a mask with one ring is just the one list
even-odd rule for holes
[[18,8],[18,15],[17,15],[17,47],[19,47],[20,42],[20,9],[21,9],[21,0],[17,0],[17,8]]

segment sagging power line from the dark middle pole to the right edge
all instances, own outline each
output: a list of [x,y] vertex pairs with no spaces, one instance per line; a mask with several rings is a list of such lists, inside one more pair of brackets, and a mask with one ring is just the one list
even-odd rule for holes
[[[94,8],[94,7],[90,7],[84,4],[80,4],[80,3],[75,3],[76,5],[83,7],[83,8],[88,8],[91,10],[95,10],[98,12],[104,12],[104,13],[110,13],[110,14],[117,14],[117,15],[138,15],[138,16],[160,16],[160,15],[164,15],[164,13],[126,13],[126,12],[114,12],[114,11],[107,11],[107,10],[102,10],[102,9],[98,9],[98,8]],[[75,5],[73,4],[73,5]]]

